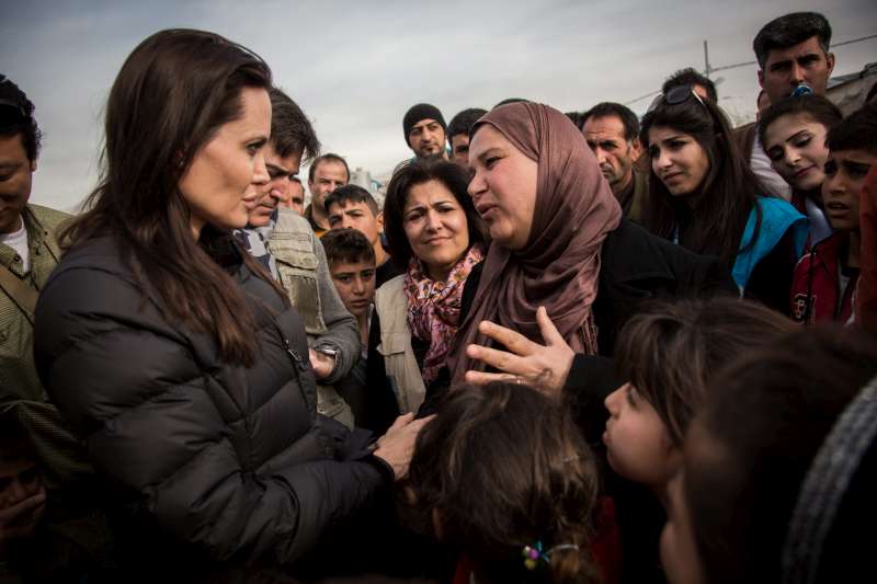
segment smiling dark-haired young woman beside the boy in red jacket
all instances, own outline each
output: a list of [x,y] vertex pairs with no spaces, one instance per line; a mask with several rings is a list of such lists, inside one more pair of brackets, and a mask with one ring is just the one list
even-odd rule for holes
[[825,136],[843,121],[822,95],[786,98],[771,105],[759,122],[759,140],[771,164],[791,186],[791,204],[810,222],[812,245],[831,234],[822,204],[829,149]]

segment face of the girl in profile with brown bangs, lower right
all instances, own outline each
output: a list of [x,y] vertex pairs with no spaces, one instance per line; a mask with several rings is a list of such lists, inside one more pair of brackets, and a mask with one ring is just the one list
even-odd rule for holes
[[605,404],[610,419],[603,442],[610,465],[622,477],[663,493],[679,470],[681,454],[658,412],[631,383],[610,393]]

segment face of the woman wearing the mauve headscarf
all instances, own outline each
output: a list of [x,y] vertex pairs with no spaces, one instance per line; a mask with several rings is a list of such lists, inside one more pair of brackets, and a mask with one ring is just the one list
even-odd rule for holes
[[538,164],[489,124],[469,144],[469,164],[475,172],[469,195],[490,238],[512,251],[523,249],[533,228]]

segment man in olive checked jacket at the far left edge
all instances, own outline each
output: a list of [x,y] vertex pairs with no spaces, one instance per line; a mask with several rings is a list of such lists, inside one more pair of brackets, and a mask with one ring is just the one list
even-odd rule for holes
[[0,408],[18,412],[52,485],[90,468],[34,364],[34,308],[60,260],[57,232],[70,216],[27,202],[41,138],[33,114],[24,92],[0,79]]

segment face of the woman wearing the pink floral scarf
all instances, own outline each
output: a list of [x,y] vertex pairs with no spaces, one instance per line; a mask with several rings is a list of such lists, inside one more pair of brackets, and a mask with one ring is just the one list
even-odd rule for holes
[[469,249],[466,211],[440,181],[413,185],[402,207],[402,227],[411,251],[430,277],[444,282]]

